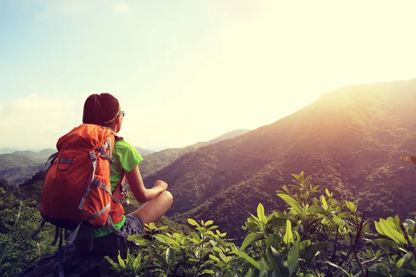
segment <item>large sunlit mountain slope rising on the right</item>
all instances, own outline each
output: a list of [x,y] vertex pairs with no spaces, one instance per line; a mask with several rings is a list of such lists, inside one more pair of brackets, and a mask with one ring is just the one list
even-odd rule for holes
[[415,216],[416,168],[400,160],[416,152],[415,101],[416,79],[336,89],[276,123],[188,152],[144,184],[168,183],[168,215],[178,222],[216,220],[240,238],[259,203],[268,212],[286,206],[275,190],[302,170],[370,217]]

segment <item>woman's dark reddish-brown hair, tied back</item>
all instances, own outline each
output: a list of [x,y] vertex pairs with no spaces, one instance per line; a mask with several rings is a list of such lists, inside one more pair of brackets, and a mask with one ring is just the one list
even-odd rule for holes
[[119,100],[110,93],[92,94],[84,103],[83,123],[107,126],[119,114]]

